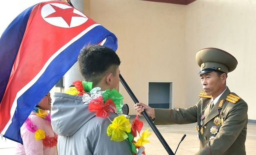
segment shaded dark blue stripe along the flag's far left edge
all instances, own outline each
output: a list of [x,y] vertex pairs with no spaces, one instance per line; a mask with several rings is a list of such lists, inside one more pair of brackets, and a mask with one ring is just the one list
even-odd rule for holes
[[[35,6],[35,5],[34,5]],[[11,69],[20,48],[26,24],[34,6],[24,10],[5,29],[0,39],[0,103],[9,81]]]

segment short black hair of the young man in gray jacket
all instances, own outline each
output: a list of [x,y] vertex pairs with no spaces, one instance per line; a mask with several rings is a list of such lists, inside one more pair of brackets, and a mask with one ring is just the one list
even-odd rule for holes
[[110,48],[100,45],[84,46],[78,56],[79,71],[84,80],[97,85],[109,72],[115,75],[121,61]]

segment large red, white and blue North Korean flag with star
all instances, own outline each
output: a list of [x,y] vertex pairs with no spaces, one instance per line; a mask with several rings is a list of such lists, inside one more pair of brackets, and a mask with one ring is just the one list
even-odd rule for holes
[[29,7],[0,39],[0,133],[22,143],[20,127],[87,44],[117,50],[117,38],[62,1]]

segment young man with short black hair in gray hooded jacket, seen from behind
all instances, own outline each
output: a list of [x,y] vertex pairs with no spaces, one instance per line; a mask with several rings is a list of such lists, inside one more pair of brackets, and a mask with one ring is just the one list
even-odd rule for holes
[[[101,91],[119,87],[120,59],[105,46],[84,47],[78,57],[79,71],[84,81]],[[131,155],[127,140],[115,142],[107,135],[107,128],[117,114],[108,118],[96,117],[84,105],[84,96],[55,93],[51,109],[52,126],[58,134],[59,155]]]

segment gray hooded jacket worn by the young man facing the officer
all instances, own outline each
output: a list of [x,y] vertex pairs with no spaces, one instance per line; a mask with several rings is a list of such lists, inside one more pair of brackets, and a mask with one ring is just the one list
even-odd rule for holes
[[[109,113],[110,120],[117,115]],[[131,155],[127,140],[115,142],[107,135],[111,123],[88,110],[82,96],[55,93],[51,109],[51,124],[58,134],[59,155]]]

